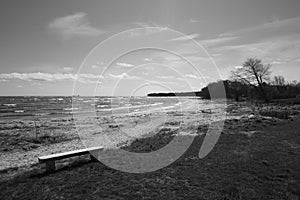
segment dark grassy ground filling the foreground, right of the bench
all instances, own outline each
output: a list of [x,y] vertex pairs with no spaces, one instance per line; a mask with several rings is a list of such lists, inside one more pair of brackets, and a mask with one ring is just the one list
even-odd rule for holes
[[[230,112],[237,112],[236,107]],[[265,115],[272,115],[272,108]],[[277,115],[277,114],[276,114]],[[199,126],[205,132],[207,126]],[[32,170],[0,183],[4,199],[299,199],[300,117],[248,115],[226,120],[222,135],[204,159],[199,134],[176,162],[146,174],[110,169],[82,160],[55,173]],[[166,145],[173,130],[123,147],[149,152]]]

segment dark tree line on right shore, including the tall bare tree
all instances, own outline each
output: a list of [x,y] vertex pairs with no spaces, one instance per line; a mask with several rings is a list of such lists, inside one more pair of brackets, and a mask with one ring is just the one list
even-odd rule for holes
[[228,80],[210,83],[201,90],[203,98],[210,98],[209,92],[225,87],[227,98],[259,99],[269,102],[274,99],[296,98],[300,95],[300,83],[288,82],[283,76],[271,76],[271,65],[262,60],[249,58],[242,66],[231,71]]

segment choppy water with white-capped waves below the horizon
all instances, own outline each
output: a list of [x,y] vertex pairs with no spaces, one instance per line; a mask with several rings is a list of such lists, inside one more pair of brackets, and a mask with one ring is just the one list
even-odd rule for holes
[[0,97],[0,117],[46,118],[66,117],[93,109],[101,115],[159,111],[182,106],[184,98],[161,97]]

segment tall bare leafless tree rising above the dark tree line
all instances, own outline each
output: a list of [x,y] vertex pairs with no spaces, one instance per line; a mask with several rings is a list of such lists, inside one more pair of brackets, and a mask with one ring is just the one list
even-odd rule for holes
[[231,72],[231,79],[253,86],[259,96],[268,101],[265,82],[270,80],[271,65],[264,65],[261,60],[248,58],[242,67]]

